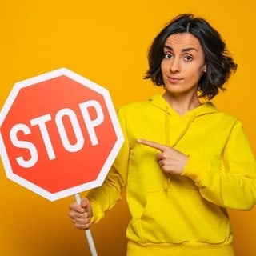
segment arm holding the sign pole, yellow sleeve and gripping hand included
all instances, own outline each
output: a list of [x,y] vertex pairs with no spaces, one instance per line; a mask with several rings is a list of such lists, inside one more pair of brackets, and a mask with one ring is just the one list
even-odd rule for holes
[[[125,142],[102,186],[90,190],[86,198],[82,199],[80,206],[76,202],[70,205],[70,218],[78,228],[88,228],[91,223],[98,222],[105,216],[106,211],[110,210],[121,198],[122,187],[126,184],[130,148],[125,132],[124,118],[120,114],[118,116]],[[84,200],[89,204],[90,214],[87,213],[87,204],[82,205],[85,203]]]

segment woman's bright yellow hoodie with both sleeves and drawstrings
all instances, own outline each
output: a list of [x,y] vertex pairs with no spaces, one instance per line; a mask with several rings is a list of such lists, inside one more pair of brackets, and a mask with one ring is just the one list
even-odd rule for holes
[[[127,255],[234,255],[226,208],[250,210],[255,204],[255,158],[241,122],[211,102],[180,116],[159,94],[122,106],[118,118],[125,143],[103,185],[88,194],[93,222],[126,186],[132,217]],[[189,155],[182,175],[166,177],[158,150],[138,138]]]

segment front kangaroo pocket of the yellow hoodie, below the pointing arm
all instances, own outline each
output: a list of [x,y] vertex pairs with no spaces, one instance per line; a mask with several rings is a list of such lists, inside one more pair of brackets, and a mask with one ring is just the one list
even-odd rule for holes
[[219,244],[231,237],[226,211],[207,202],[198,190],[150,192],[139,229],[146,243]]

